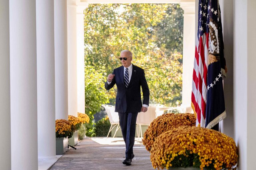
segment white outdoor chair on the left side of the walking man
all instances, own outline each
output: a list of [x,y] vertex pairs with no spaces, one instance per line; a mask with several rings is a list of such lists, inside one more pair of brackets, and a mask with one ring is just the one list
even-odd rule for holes
[[[109,131],[108,131],[108,135],[113,130],[113,128],[116,127],[116,131],[113,136],[113,137],[115,137],[117,130],[120,128],[118,113],[115,112],[115,106],[111,106],[111,105],[102,105],[102,106],[105,108],[107,115],[108,115],[109,122],[111,124]],[[108,135],[107,135],[107,137],[108,137]]]

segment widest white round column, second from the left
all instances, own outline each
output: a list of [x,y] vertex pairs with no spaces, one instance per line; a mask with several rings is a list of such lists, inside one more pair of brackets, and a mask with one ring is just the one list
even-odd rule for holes
[[9,5],[11,168],[35,170],[38,169],[36,1],[10,1]]

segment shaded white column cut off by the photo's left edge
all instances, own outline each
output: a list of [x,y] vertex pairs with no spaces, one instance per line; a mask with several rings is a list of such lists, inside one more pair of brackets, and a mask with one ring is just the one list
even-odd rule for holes
[[11,169],[10,37],[9,1],[0,0],[0,165]]

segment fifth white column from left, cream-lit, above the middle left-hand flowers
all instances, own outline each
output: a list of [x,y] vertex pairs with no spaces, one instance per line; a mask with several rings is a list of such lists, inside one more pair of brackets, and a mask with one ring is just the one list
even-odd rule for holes
[[76,0],[67,1],[68,22],[68,114],[77,116]]

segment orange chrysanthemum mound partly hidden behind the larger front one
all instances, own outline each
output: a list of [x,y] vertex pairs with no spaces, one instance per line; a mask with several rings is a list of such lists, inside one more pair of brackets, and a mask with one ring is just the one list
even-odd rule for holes
[[143,144],[145,145],[146,149],[150,151],[157,136],[163,132],[171,130],[172,128],[178,128],[180,126],[196,126],[196,118],[194,114],[169,113],[157,117],[153,122],[151,122],[149,128],[145,131]]

